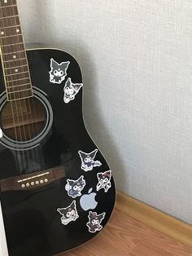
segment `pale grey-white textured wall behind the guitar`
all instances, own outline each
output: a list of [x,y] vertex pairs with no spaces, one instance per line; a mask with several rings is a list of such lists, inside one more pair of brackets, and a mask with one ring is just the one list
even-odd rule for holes
[[27,42],[81,64],[85,122],[117,187],[192,223],[192,2],[19,3]]

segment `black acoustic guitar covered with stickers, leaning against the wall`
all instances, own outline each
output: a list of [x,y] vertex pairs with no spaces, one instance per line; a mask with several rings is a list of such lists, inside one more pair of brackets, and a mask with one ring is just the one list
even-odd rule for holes
[[0,46],[0,249],[7,241],[10,256],[52,256],[103,229],[114,180],[85,130],[72,55],[26,51],[16,0],[0,0]]

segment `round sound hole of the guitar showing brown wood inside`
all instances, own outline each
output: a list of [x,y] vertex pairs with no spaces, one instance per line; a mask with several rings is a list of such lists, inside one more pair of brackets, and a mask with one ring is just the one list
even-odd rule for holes
[[9,101],[2,108],[2,130],[15,141],[28,141],[35,138],[46,122],[46,110],[35,97]]

